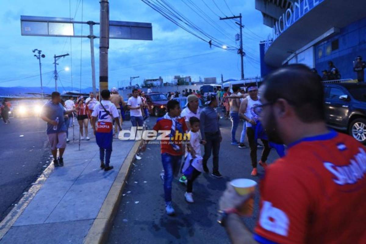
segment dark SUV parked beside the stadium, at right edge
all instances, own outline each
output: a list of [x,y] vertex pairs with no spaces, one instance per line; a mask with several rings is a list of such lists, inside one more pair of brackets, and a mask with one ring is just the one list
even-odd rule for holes
[[366,84],[324,82],[324,94],[328,126],[366,143]]

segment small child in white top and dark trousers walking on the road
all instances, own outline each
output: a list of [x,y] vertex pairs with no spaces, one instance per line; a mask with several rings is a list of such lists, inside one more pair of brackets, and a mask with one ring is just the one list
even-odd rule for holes
[[201,133],[199,132],[199,119],[197,117],[191,117],[189,119],[191,126],[190,134],[190,147],[187,147],[184,166],[182,169],[183,174],[187,178],[187,192],[184,194],[186,201],[193,203],[192,189],[193,181],[203,172],[202,157],[201,157],[201,144],[206,144],[206,141],[202,140]]

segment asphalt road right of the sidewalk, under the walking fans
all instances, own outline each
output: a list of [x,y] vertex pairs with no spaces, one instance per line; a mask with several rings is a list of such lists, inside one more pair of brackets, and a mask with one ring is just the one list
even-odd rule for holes
[[[149,125],[155,121],[154,117],[150,118]],[[195,203],[187,203],[184,198],[185,185],[179,183],[178,179],[173,181],[172,197],[176,216],[169,217],[165,213],[163,184],[159,177],[163,169],[160,145],[150,144],[141,155],[142,159],[134,162],[108,243],[229,243],[225,230],[216,222],[218,200],[226,182],[236,178],[258,181],[264,171],[258,165],[259,176],[250,176],[249,149],[239,149],[230,144],[230,120],[222,119],[220,124],[223,142],[219,164],[223,179],[201,174],[193,185]],[[241,130],[239,126],[236,132],[238,140]],[[258,150],[258,160],[260,154],[261,149]],[[272,150],[268,162],[276,158],[277,154]],[[209,159],[208,166],[211,172],[212,159]],[[254,215],[244,219],[251,230],[258,216],[258,200],[257,192]]]

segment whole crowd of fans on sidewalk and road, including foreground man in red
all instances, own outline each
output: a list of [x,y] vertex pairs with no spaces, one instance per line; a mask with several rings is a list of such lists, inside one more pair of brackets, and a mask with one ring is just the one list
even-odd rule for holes
[[[211,157],[212,176],[222,178],[219,153],[225,135],[220,130],[217,107],[223,104],[232,120],[231,144],[239,148],[243,148],[244,140],[238,143],[235,134],[240,119],[244,121],[244,138],[246,136],[249,142],[253,167],[251,175],[257,175],[257,164],[265,169],[254,240],[241,214],[253,195],[239,195],[228,183],[219,201],[219,223],[233,243],[365,242],[365,228],[360,223],[366,212],[359,207],[366,196],[365,147],[354,138],[326,127],[321,81],[305,65],[288,65],[268,75],[260,88],[252,84],[240,92],[240,88],[233,87],[232,94],[228,90],[222,95],[221,90],[208,94],[203,109],[199,108],[199,98],[195,94],[187,96],[187,106],[183,110],[178,101],[169,100],[167,113],[158,118],[153,127],[155,131],[169,131],[169,136],[160,142],[164,168],[160,178],[167,214],[175,214],[174,177],[180,176],[179,181],[187,185],[184,197],[188,203],[194,203],[194,181],[200,174],[210,172]],[[112,95],[108,90],[101,91],[102,101],[96,101],[93,109],[89,107],[89,104],[93,105],[92,95],[86,102],[79,98],[74,107],[68,109],[70,106],[66,102],[61,105],[60,94],[52,93],[41,118],[48,123],[47,134],[55,166],[64,164],[65,116],[78,112],[81,127],[84,115],[91,113],[91,125],[100,148],[100,166],[106,171],[113,169],[110,165],[113,120],[121,129],[121,115],[115,102],[119,105],[121,101],[113,102]],[[142,126],[146,117],[142,97],[142,91],[134,89],[128,99],[132,126]],[[86,114],[80,110],[85,110]],[[80,132],[82,135],[82,130]],[[177,136],[186,134],[189,136]],[[263,143],[259,161],[258,139]],[[144,142],[142,151],[147,144],[148,141]],[[271,147],[280,158],[268,165],[266,160]]]

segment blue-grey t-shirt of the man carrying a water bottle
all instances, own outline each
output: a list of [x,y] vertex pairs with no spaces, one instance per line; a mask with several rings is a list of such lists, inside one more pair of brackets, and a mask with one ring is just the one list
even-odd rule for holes
[[48,101],[42,108],[42,115],[50,120],[56,120],[59,117],[59,124],[57,124],[57,129],[53,129],[53,125],[47,123],[47,134],[59,133],[66,131],[66,125],[64,121],[64,107],[62,104],[54,104],[52,101]]

